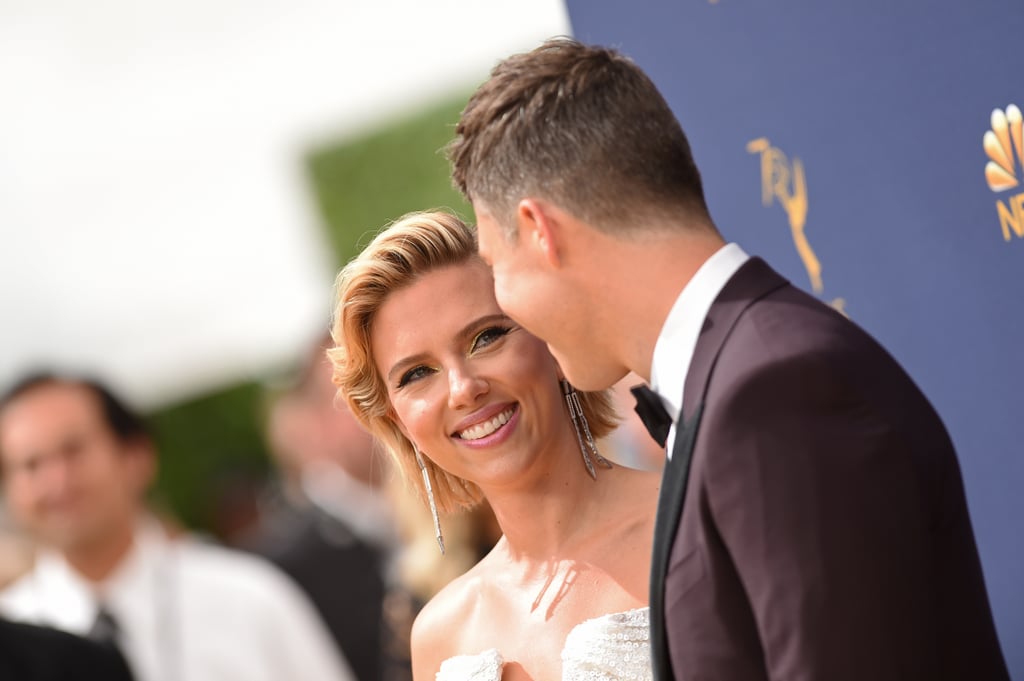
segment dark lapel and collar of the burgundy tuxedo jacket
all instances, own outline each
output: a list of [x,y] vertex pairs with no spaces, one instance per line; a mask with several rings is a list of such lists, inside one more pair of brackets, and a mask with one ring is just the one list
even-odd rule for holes
[[[759,298],[786,284],[785,279],[761,258],[748,260],[725,285],[709,309],[690,360],[683,393],[683,409],[676,420],[672,459],[666,464],[662,477],[662,492],[654,518],[654,546],[650,564],[650,622],[652,665],[656,681],[671,681],[675,678],[669,657],[665,623],[666,577],[682,520],[690,462],[712,371],[722,346],[743,310]],[[687,419],[687,414],[692,416]]]

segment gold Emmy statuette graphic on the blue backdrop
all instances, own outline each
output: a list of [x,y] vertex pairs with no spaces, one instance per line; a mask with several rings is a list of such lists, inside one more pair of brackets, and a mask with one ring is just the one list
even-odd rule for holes
[[[820,296],[825,290],[821,280],[821,261],[814,254],[804,230],[807,224],[807,179],[804,176],[804,164],[796,157],[791,164],[782,150],[772,146],[767,137],[751,140],[746,144],[746,151],[761,155],[761,201],[765,206],[771,206],[772,200],[777,200],[785,211],[793,244],[797,247],[800,259],[804,261],[811,288]],[[845,299],[834,298],[828,304],[846,314]]]

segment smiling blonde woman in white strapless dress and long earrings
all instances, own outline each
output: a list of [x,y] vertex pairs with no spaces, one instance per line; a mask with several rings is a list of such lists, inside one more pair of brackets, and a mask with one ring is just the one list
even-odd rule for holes
[[474,232],[383,230],[338,278],[333,335],[335,382],[435,518],[485,498],[503,533],[417,618],[414,679],[650,678],[658,477],[601,458],[610,395],[502,312]]

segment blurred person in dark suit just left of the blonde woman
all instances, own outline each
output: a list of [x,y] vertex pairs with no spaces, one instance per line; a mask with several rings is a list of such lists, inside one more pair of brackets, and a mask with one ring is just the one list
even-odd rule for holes
[[[240,545],[276,563],[309,595],[359,681],[386,677],[388,570],[398,548],[386,461],[335,403],[327,340],[273,397],[267,440],[278,479]],[[400,667],[400,664],[399,664]]]

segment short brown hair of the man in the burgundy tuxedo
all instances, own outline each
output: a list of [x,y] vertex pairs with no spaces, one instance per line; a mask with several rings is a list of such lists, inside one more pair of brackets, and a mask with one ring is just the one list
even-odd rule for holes
[[603,229],[708,213],[689,142],[653,82],[615,50],[569,38],[495,67],[447,153],[456,186],[507,228],[527,196]]

